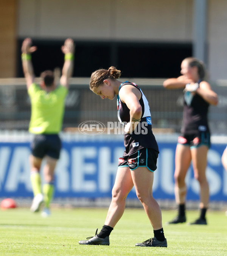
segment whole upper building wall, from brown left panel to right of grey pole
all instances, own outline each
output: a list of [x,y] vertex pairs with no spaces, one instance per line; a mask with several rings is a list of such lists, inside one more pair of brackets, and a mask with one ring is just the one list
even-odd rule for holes
[[[15,38],[26,36],[40,39],[73,37],[76,40],[193,42],[193,2],[1,0],[3,36],[0,49],[3,58],[0,60],[0,77],[15,74],[15,57],[12,56],[16,51]],[[17,27],[14,25],[15,8]],[[227,79],[226,10],[226,0],[207,0],[207,67],[213,81]],[[8,22],[7,28],[3,25],[5,22]],[[3,50],[6,44],[9,57]]]

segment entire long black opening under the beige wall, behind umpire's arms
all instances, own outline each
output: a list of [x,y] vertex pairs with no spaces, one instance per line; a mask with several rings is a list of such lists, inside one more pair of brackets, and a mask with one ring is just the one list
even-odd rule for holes
[[[96,69],[115,66],[124,77],[166,78],[180,75],[182,59],[192,55],[190,43],[77,41],[73,77],[90,77]],[[17,77],[23,77],[21,45],[17,45]],[[62,67],[62,40],[33,39],[38,47],[32,55],[36,76]]]

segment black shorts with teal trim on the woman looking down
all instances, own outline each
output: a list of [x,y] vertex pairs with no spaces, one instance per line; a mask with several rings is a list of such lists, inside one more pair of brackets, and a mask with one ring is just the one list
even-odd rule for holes
[[129,167],[135,170],[138,167],[147,167],[154,172],[157,169],[157,158],[159,152],[153,148],[142,148],[129,156],[123,156],[118,159],[118,167]]

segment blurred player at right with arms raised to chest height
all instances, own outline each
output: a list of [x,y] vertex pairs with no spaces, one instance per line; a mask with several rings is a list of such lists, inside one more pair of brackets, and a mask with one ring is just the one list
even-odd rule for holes
[[191,224],[207,224],[205,214],[209,201],[209,186],[206,178],[207,152],[210,147],[208,107],[218,104],[218,96],[204,81],[205,69],[196,58],[186,58],[181,63],[181,76],[164,81],[166,89],[184,88],[183,124],[178,137],[175,155],[175,198],[178,204],[177,217],[171,224],[186,222],[185,176],[192,161],[194,178],[200,185],[200,217]]

